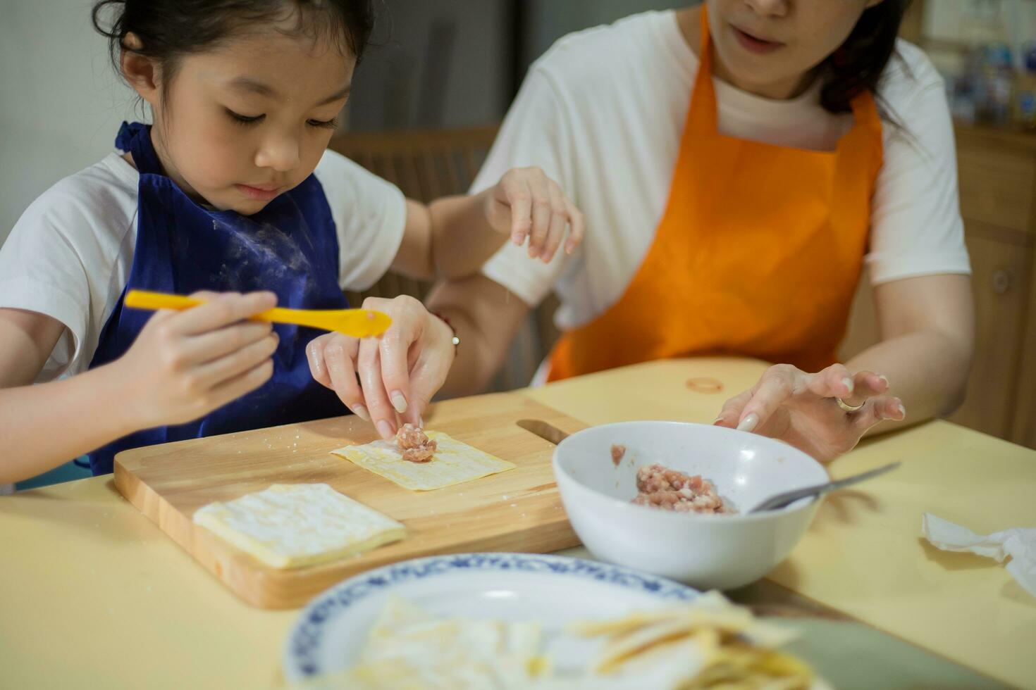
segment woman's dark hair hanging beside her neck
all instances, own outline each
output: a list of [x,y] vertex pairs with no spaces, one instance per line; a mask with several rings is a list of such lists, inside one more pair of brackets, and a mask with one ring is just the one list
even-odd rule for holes
[[909,4],[910,0],[884,0],[863,10],[848,38],[823,65],[821,104],[826,111],[848,113],[856,95],[863,91],[877,94]]

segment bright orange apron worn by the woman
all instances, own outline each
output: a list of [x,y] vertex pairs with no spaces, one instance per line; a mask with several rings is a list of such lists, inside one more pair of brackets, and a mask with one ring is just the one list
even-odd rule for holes
[[719,133],[702,8],[700,65],[654,243],[618,301],[562,337],[548,380],[706,354],[808,371],[834,363],[882,166],[870,93],[853,114],[834,151]]

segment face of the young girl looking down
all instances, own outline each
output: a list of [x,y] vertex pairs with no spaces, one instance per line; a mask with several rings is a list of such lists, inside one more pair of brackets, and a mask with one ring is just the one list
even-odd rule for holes
[[260,211],[316,168],[355,64],[272,26],[184,56],[167,94],[142,92],[166,174],[218,209]]

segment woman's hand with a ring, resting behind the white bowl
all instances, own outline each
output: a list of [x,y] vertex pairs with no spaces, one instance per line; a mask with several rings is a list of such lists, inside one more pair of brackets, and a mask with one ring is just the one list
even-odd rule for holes
[[[718,426],[755,431],[788,443],[827,462],[847,453],[871,426],[906,416],[899,398],[885,395],[889,382],[872,371],[852,376],[841,364],[806,373],[790,364],[772,366],[752,389],[726,401]],[[845,412],[836,398],[858,412]]]

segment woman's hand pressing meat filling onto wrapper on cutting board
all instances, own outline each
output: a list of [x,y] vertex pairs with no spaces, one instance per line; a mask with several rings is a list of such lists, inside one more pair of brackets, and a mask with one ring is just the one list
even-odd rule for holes
[[368,297],[364,308],[392,317],[381,337],[327,333],[313,339],[306,352],[313,378],[338,393],[357,417],[373,421],[387,441],[399,429],[400,418],[422,424],[421,416],[453,364],[453,331],[405,295]]

